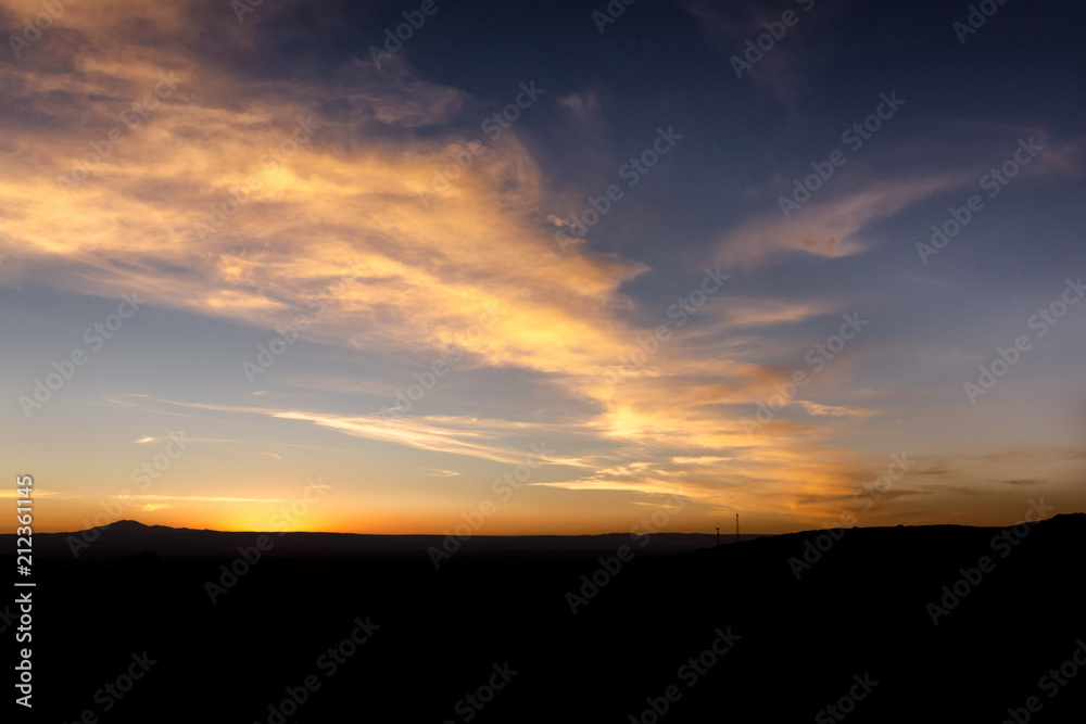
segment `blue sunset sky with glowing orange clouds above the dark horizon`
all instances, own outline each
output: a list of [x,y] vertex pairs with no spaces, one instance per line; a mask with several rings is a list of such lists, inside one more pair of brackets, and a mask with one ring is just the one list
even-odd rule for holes
[[0,497],[31,475],[39,532],[1086,509],[1086,10],[981,5],[0,0]]

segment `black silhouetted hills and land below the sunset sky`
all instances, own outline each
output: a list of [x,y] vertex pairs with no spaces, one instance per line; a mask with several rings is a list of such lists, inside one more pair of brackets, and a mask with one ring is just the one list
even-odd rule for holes
[[[206,541],[249,545],[255,534],[118,524],[97,557],[42,554],[40,703],[51,721],[88,708],[105,721],[96,691],[147,650],[157,663],[109,721],[163,721],[166,701],[174,721],[199,721],[200,693],[220,689],[216,721],[268,722],[268,706],[311,674],[320,687],[286,721],[343,721],[359,702],[405,722],[463,722],[466,712],[477,722],[655,721],[653,702],[667,704],[665,722],[842,721],[825,708],[850,693],[863,697],[843,702],[849,722],[1002,722],[1030,697],[1043,704],[1038,722],[1073,721],[1086,676],[1052,698],[1038,682],[1086,635],[1072,564],[1086,515],[1021,530],[1006,557],[994,547],[1002,529],[845,530],[798,580],[794,560],[825,531],[635,555],[606,576],[599,558],[615,549],[585,554],[582,543],[548,556],[454,556],[434,570],[425,555],[332,557],[320,544],[350,536],[311,534],[299,539],[313,555],[277,547],[213,605],[205,584],[231,557],[209,557],[223,546]],[[177,555],[182,539],[200,555]],[[958,583],[985,556],[994,568]],[[927,606],[956,583],[964,595],[945,601],[954,606],[936,625]],[[567,594],[584,595],[576,614]],[[321,652],[367,622],[379,627],[328,676]],[[727,653],[707,653],[714,647]],[[507,681],[495,673],[506,662]],[[473,709],[465,697],[492,675],[503,688],[483,690],[493,698]]]

